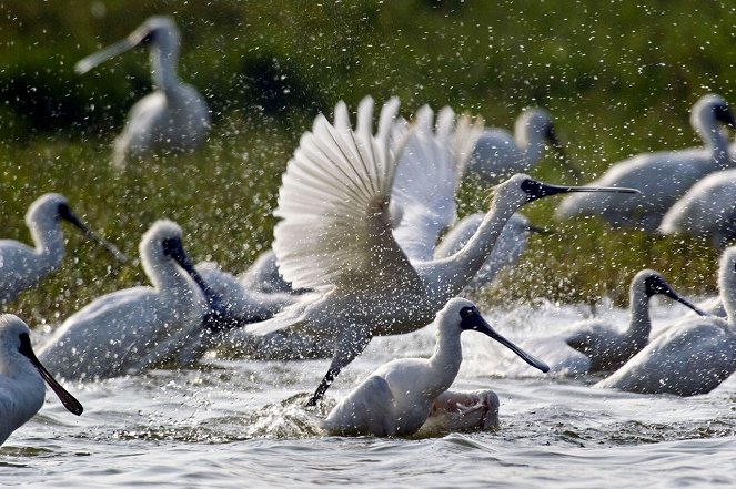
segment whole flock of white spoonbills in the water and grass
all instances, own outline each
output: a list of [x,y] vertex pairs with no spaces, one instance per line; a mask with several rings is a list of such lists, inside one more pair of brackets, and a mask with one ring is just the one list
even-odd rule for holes
[[[113,164],[121,170],[149,152],[191,151],[210,126],[202,98],[177,78],[179,33],[170,18],[148,19],[124,40],[80,61],[77,71],[135,45],[150,48],[157,90],[133,106],[115,140]],[[399,105],[391,99],[374,118],[374,102],[365,98],[355,122],[343,102],[333,121],[316,116],[282,177],[272,251],[242,275],[211,263],[194,265],[181,227],[161,220],[139,248],[151,286],[98,297],[57,328],[38,358],[28,326],[11,314],[0,316],[0,444],[40,409],[43,380],[71,412],[82,412],[52,375],[94,381],[191,366],[223,344],[243,352],[258,344],[265,356],[331,358],[307,404],[315,405],[371,338],[432,322],[434,354],[379,368],[327,416],[327,434],[407,436],[427,426],[497,427],[493,391],[450,390],[464,330],[483,333],[525,361],[510,361],[507,374],[528,375],[530,366],[548,375],[609,374],[596,388],[690,396],[712,390],[736,370],[736,247],[727,247],[736,237],[736,169],[729,170],[736,155],[724,132],[736,121],[725,100],[708,94],[693,108],[690,121],[703,147],[639,154],[582,187],[522,173],[548,143],[579,174],[544,110],[525,111],[512,135],[450,108],[435,116],[422,106],[407,122],[399,116]],[[455,194],[466,173],[495,186],[485,214],[457,221]],[[569,194],[557,207],[558,218],[597,216],[614,226],[690,233],[725,248],[718,306],[704,310],[645,269],[631,284],[629,325],[591,319],[563,335],[524,342],[524,349],[546,363],[505,339],[457,296],[488,284],[518,258],[528,234],[541,230],[517,211],[557,194]],[[74,216],[63,196],[43,195],[27,214],[34,246],[0,241],[6,307],[59,268],[61,221],[125,259]],[[656,294],[697,315],[652,339],[648,300]]]

